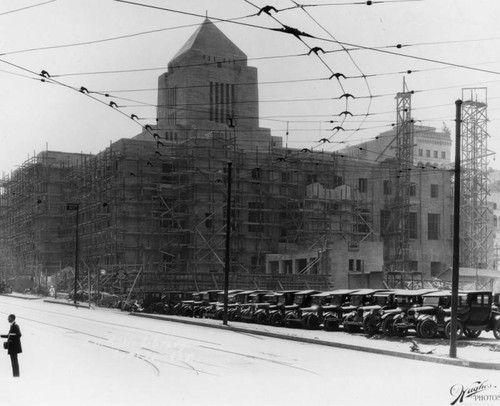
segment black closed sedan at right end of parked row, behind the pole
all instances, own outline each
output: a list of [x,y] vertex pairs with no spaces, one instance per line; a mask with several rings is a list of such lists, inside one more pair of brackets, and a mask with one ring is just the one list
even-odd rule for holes
[[[451,336],[451,308],[439,309],[436,314],[436,329],[446,338]],[[500,313],[493,305],[490,291],[459,292],[457,307],[457,338],[477,338],[481,331],[493,331],[500,340]]]

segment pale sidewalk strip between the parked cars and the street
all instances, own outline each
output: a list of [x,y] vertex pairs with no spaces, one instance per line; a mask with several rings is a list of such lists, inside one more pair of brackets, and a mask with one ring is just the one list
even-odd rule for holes
[[[4,296],[19,299],[40,299],[47,303],[56,303],[74,306],[67,299],[50,299],[33,295],[6,294]],[[89,308],[88,303],[77,303],[78,307]],[[107,310],[92,306],[93,310]],[[116,310],[116,309],[113,309]],[[267,337],[287,339],[306,342],[316,345],[344,348],[354,351],[371,352],[374,354],[395,356],[419,361],[435,362],[448,365],[456,365],[478,369],[500,370],[500,340],[495,340],[491,332],[483,332],[474,340],[459,340],[457,343],[457,358],[450,358],[449,341],[443,339],[423,340],[414,336],[409,337],[385,337],[375,335],[366,337],[363,334],[349,334],[342,331],[329,332],[324,330],[291,329],[285,327],[273,327],[260,324],[249,324],[241,322],[228,322],[223,325],[220,320],[196,319],[191,317],[168,316],[148,313],[129,313],[135,317],[146,317],[176,323],[185,323],[207,328],[219,328],[245,334],[256,334]],[[419,346],[419,352],[411,350],[414,342]],[[427,353],[428,352],[428,353]]]

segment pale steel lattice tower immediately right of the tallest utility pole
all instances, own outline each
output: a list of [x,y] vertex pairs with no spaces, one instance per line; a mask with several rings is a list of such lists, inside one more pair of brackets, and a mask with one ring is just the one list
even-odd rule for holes
[[460,263],[486,268],[488,257],[487,89],[462,89]]

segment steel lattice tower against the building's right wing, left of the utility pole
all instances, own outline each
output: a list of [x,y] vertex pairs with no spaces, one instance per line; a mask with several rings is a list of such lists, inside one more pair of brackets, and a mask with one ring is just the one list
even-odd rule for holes
[[403,92],[397,93],[397,132],[396,132],[396,194],[391,207],[393,212],[393,244],[391,244],[390,268],[401,275],[410,271],[410,185],[413,166],[413,123],[411,118],[411,95],[406,83]]

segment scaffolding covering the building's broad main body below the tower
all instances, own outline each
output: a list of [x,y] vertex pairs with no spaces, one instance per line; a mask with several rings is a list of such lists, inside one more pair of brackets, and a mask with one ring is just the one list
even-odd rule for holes
[[[83,291],[220,289],[230,160],[231,285],[328,288],[321,253],[332,244],[357,250],[373,234],[372,209],[339,159],[244,149],[225,132],[159,149],[123,139],[97,155],[47,152],[2,181],[2,273],[50,275],[57,291],[71,292],[78,240]],[[280,253],[304,255],[293,273],[268,272],[267,257]]]

